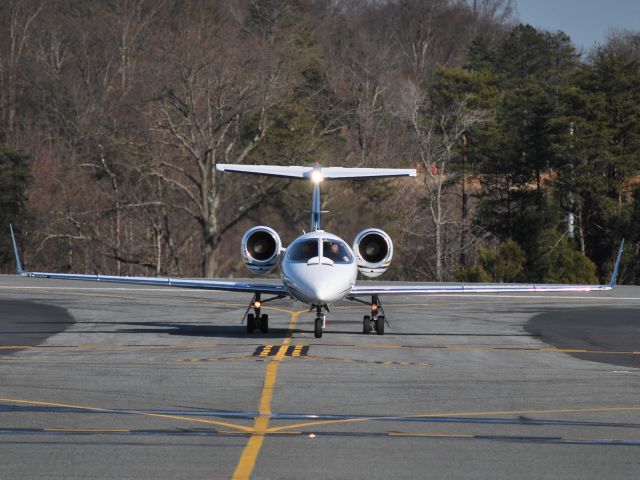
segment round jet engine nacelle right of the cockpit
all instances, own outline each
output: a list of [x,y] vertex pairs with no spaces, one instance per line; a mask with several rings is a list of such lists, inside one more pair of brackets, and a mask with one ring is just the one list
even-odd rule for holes
[[391,237],[378,228],[367,228],[356,235],[353,241],[358,270],[365,277],[382,275],[393,258]]

